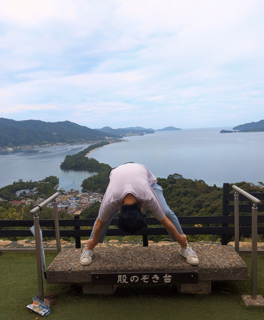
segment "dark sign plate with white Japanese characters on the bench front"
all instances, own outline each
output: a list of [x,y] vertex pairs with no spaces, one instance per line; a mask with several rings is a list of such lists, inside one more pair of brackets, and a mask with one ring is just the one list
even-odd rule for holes
[[92,284],[193,284],[198,283],[197,271],[143,271],[92,273]]

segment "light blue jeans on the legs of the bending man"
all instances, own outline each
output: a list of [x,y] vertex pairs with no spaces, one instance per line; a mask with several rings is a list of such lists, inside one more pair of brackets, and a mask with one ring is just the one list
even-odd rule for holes
[[[180,235],[183,235],[183,231],[182,231],[182,228],[180,226],[180,223],[176,217],[176,215],[174,214],[174,212],[172,212],[168,206],[168,204],[166,203],[166,200],[163,196],[163,193],[162,193],[162,188],[161,186],[159,186],[157,183],[154,183],[151,188],[154,190],[155,194],[157,195],[158,199],[160,200],[160,203],[161,203],[161,206],[162,206],[162,209],[166,215],[166,217],[172,222],[172,224],[174,225],[174,227],[177,229],[178,233]],[[119,209],[113,211],[110,216],[109,216],[109,219],[105,222],[104,226],[103,226],[103,230],[101,232],[101,235],[99,237],[99,243],[103,243],[103,239],[106,235],[106,232],[110,226],[110,223],[114,217],[114,215],[119,211]],[[98,217],[97,217],[98,219]],[[96,220],[97,220],[96,219]],[[95,221],[96,222],[96,221]],[[91,236],[90,236],[90,239],[93,238],[93,235],[94,235],[94,228],[95,228],[95,224],[94,224],[94,227],[93,227],[93,230],[92,230],[92,233],[91,233]],[[174,238],[174,236],[172,236],[171,233],[169,233],[169,236],[171,237],[171,240],[172,241],[176,241],[176,239]]]

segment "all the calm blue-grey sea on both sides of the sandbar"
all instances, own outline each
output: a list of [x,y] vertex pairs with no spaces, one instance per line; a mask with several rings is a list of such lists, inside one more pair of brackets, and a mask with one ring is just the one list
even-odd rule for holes
[[[240,181],[264,181],[264,132],[220,133],[232,128],[199,128],[161,131],[124,138],[90,152],[101,163],[116,167],[126,162],[144,164],[156,177],[178,173],[204,180],[210,186]],[[55,175],[59,188],[82,191],[81,182],[96,174],[87,170],[60,169],[66,155],[88,145],[53,146],[0,153],[0,187],[23,179],[41,180]]]

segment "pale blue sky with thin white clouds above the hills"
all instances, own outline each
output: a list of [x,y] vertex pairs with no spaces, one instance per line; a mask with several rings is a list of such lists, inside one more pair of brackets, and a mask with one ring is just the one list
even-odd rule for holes
[[89,128],[264,119],[263,0],[0,0],[0,117]]

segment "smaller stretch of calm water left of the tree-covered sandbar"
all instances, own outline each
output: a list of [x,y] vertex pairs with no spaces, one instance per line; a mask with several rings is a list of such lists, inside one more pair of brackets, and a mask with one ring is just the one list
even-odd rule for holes
[[0,152],[0,187],[19,179],[38,181],[52,175],[59,178],[59,188],[81,190],[82,181],[96,172],[63,170],[60,169],[60,164],[65,156],[78,153],[88,146],[55,146]]

